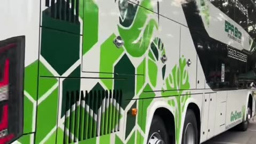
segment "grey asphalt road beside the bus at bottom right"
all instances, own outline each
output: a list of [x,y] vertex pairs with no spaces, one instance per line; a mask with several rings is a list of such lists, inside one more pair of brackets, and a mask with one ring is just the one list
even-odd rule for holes
[[203,144],[256,144],[256,117],[245,132],[227,131]]

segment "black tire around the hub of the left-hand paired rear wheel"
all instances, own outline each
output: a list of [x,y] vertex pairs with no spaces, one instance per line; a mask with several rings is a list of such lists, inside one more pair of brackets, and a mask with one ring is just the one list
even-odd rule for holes
[[160,135],[160,137],[164,141],[164,143],[169,144],[169,137],[168,137],[168,133],[167,133],[164,121],[158,115],[155,115],[151,122],[147,144],[149,143],[149,139],[150,139],[151,135],[153,135],[156,132]]

